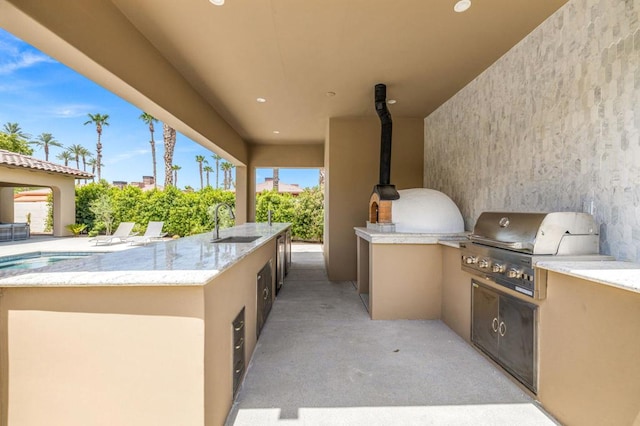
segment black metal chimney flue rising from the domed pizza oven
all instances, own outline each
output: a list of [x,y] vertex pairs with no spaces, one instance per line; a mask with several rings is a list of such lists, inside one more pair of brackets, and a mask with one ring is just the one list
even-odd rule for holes
[[373,191],[380,195],[383,200],[397,200],[400,194],[396,191],[395,185],[391,185],[391,136],[393,131],[393,121],[391,113],[387,109],[387,86],[376,84],[375,86],[375,107],[381,123],[380,136],[380,181],[373,188]]

